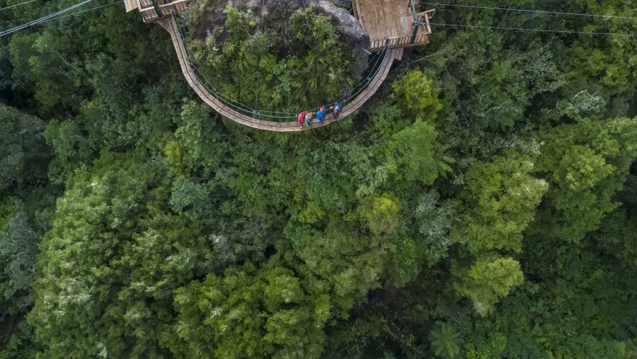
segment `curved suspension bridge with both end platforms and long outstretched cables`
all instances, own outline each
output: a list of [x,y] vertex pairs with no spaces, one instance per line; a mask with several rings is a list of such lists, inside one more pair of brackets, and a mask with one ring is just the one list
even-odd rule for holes
[[[4,11],[18,6],[26,6],[38,0],[27,0],[19,4],[5,6],[0,8]],[[183,44],[184,35],[181,33],[176,14],[188,9],[188,0],[117,0],[110,4],[104,4],[93,8],[80,10],[81,6],[90,3],[93,0],[83,0],[79,4],[69,6],[56,13],[51,13],[34,21],[17,25],[14,28],[8,28],[0,31],[0,37],[8,36],[20,30],[25,30],[34,25],[46,23],[48,21],[66,18],[67,16],[76,16],[87,11],[94,11],[107,6],[116,4],[125,4],[127,12],[138,10],[142,14],[144,22],[157,22],[168,31],[173,40],[173,45],[177,52],[177,57],[185,79],[188,84],[195,90],[198,96],[205,103],[214,108],[222,116],[234,120],[243,125],[258,128],[261,130],[271,130],[277,132],[292,132],[309,130],[321,127],[334,122],[333,114],[329,113],[325,122],[316,122],[309,127],[299,127],[297,125],[296,114],[294,113],[276,113],[272,111],[260,111],[249,108],[242,103],[233,101],[232,98],[224,96],[223,93],[214,89],[214,87],[202,81],[202,74],[197,68],[188,62],[188,52],[186,52]],[[637,38],[633,33],[603,33],[580,30],[553,30],[543,28],[510,28],[503,26],[491,25],[474,25],[474,24],[454,24],[454,23],[432,23],[430,20],[435,10],[417,12],[415,4],[425,4],[429,6],[452,6],[458,8],[479,8],[489,11],[518,11],[526,13],[547,14],[553,16],[586,16],[589,18],[608,18],[622,19],[624,21],[635,21],[634,16],[616,16],[611,13],[565,13],[559,11],[548,11],[527,8],[497,8],[488,6],[473,6],[459,4],[442,4],[432,2],[414,3],[414,0],[343,0],[344,2],[352,2],[352,10],[355,18],[362,25],[363,30],[369,35],[370,43],[368,50],[376,52],[376,55],[369,61],[368,67],[371,65],[369,74],[357,86],[354,86],[352,93],[339,99],[339,103],[345,105],[345,111],[341,115],[350,115],[360,108],[374,93],[386,78],[391,64],[394,60],[400,60],[403,55],[404,47],[417,45],[425,45],[429,42],[432,33],[431,26],[444,26],[452,28],[478,28],[489,30],[507,30],[507,31],[534,31],[545,33],[560,33],[572,35],[595,35],[603,37],[621,37],[621,38]],[[77,11],[74,11],[76,10]],[[327,106],[326,106],[327,107]],[[263,120],[269,118],[272,120]],[[282,122],[286,120],[287,122]]]

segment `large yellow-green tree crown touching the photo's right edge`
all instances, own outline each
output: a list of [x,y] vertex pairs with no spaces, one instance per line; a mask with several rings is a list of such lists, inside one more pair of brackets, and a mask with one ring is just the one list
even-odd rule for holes
[[544,236],[579,241],[620,205],[613,198],[637,158],[637,118],[561,125],[541,139],[535,171],[549,191],[536,226]]

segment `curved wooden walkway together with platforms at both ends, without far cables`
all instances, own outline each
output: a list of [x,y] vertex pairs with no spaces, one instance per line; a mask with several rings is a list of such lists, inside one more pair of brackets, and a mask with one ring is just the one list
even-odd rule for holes
[[[354,0],[354,15],[360,21],[363,30],[370,37],[369,50],[377,52],[369,75],[361,84],[354,86],[352,93],[340,101],[344,106],[340,118],[344,118],[358,110],[376,93],[391,69],[394,60],[403,57],[404,47],[425,45],[429,42],[431,28],[427,25],[433,16],[433,10],[417,13],[413,0]],[[363,1],[359,4],[359,1]],[[296,114],[273,113],[260,111],[232,101],[211,84],[202,79],[197,68],[188,61],[188,52],[183,44],[183,33],[178,27],[176,14],[188,9],[186,0],[125,0],[126,11],[139,10],[144,22],[156,22],[171,35],[177,58],[188,85],[197,93],[202,101],[217,111],[224,118],[241,123],[258,130],[275,132],[297,132],[323,127],[335,122],[333,113],[328,113],[323,122],[300,127]],[[379,11],[379,8],[391,9]],[[394,11],[401,17],[394,16]],[[326,106],[327,108],[328,106]],[[300,109],[299,109],[300,110]],[[300,111],[299,111],[300,112]],[[268,118],[272,120],[263,120]],[[282,122],[281,120],[287,120]]]

